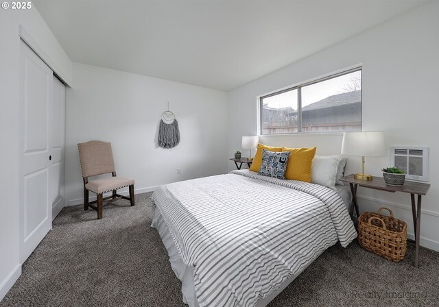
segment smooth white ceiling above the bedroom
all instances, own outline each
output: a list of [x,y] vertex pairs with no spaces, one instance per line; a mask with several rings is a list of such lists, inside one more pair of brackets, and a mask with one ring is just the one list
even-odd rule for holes
[[74,62],[231,90],[427,0],[33,0]]

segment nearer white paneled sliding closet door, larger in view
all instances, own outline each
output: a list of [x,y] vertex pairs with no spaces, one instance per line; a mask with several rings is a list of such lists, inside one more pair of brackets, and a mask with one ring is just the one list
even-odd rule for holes
[[20,262],[51,229],[52,71],[20,41]]

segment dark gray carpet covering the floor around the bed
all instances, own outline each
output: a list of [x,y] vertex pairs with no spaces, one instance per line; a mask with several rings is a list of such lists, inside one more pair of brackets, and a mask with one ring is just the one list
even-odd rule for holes
[[[151,193],[106,206],[104,219],[82,206],[64,208],[3,306],[185,306],[180,281],[156,230]],[[439,306],[439,253],[413,244],[393,263],[335,245],[270,304],[274,306]]]

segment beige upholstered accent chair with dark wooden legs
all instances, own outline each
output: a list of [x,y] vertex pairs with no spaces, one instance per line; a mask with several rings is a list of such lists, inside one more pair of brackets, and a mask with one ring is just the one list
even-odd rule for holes
[[[117,199],[128,199],[134,206],[134,180],[117,177],[115,162],[112,158],[111,143],[91,140],[78,144],[82,179],[84,182],[84,210],[91,207],[97,211],[97,219],[102,219],[102,206]],[[111,173],[112,177],[99,178],[88,182],[88,177]],[[130,197],[117,194],[119,188],[128,186]],[[95,201],[88,201],[88,191],[96,193]],[[104,197],[104,193],[112,191],[112,195]],[[97,204],[94,206],[93,204]]]

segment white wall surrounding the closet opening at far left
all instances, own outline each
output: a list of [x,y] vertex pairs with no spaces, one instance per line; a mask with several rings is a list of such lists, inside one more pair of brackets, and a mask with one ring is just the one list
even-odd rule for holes
[[61,75],[71,78],[71,61],[32,10],[0,10],[0,300],[21,274],[19,263],[19,24],[38,43]]

